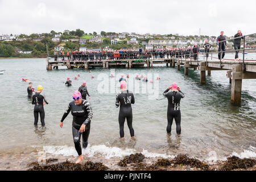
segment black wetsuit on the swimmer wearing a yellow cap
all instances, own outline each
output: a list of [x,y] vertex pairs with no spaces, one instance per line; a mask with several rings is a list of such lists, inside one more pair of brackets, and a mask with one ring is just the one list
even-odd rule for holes
[[44,105],[43,102],[46,101],[46,97],[38,92],[35,93],[35,95],[32,97],[32,105],[35,105],[34,107],[34,125],[38,125],[38,114],[40,113],[40,121],[42,123],[42,126],[45,125],[44,123]]

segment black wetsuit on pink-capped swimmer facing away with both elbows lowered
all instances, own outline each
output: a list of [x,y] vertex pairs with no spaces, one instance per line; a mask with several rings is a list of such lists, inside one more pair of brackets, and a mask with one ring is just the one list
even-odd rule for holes
[[123,90],[117,94],[115,98],[115,106],[118,108],[120,105],[119,110],[119,134],[120,138],[125,136],[123,131],[123,126],[125,125],[125,118],[127,120],[127,125],[130,130],[131,137],[134,137],[134,130],[133,130],[133,110],[131,109],[131,104],[134,104],[134,96],[133,93],[129,90]]

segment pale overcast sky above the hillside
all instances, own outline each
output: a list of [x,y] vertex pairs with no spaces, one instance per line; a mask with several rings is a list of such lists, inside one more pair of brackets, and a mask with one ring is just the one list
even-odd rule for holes
[[256,1],[0,0],[0,34],[55,30],[231,36],[256,32]]

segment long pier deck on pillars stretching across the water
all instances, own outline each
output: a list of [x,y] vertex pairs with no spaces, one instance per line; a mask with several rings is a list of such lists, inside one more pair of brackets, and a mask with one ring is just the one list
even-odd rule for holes
[[189,68],[198,69],[200,71],[200,82],[205,84],[206,71],[211,75],[212,71],[226,70],[226,77],[230,79],[231,88],[231,102],[236,105],[241,104],[241,90],[243,79],[256,78],[256,61],[226,61],[226,60],[192,60],[192,59],[179,59],[172,57],[171,59],[134,59],[134,60],[102,60],[102,61],[49,61],[47,58],[47,70],[58,69],[59,66],[66,66],[68,69],[72,68],[94,68],[101,67],[103,69],[113,67],[146,67],[152,68],[154,64],[166,64],[167,67],[180,70],[180,66],[184,67],[184,75],[189,74]]

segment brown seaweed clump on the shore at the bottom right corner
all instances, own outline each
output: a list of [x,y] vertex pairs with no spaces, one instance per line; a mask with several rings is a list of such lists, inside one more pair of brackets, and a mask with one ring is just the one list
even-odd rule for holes
[[240,159],[237,156],[231,156],[227,158],[221,167],[221,171],[230,171],[232,169],[247,169],[248,167],[253,167],[256,164],[254,159]]

